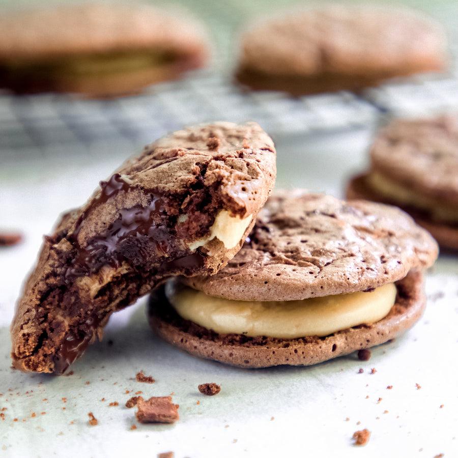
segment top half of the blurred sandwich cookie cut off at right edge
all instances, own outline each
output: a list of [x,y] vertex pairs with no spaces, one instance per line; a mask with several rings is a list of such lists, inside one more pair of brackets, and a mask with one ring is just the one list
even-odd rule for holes
[[370,150],[372,167],[433,198],[458,205],[458,115],[395,120]]

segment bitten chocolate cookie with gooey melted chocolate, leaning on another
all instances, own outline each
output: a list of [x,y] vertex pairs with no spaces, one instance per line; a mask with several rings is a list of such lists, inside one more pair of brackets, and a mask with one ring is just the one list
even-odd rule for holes
[[167,277],[216,273],[274,180],[274,145],[255,123],[199,125],[147,146],[45,237],[12,324],[14,366],[61,374],[113,311]]

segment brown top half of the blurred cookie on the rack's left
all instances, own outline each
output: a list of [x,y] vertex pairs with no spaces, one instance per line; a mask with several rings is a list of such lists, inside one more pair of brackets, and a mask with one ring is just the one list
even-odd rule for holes
[[0,16],[0,62],[157,49],[207,54],[203,27],[183,14],[137,3],[85,3]]

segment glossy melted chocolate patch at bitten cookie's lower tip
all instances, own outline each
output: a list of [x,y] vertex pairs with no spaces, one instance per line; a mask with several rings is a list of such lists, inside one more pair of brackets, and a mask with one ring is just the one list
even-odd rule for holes
[[56,353],[54,358],[54,371],[56,374],[63,374],[67,367],[84,353],[99,323],[100,320],[97,315],[94,314],[79,327],[77,334],[73,332],[68,333],[59,352]]

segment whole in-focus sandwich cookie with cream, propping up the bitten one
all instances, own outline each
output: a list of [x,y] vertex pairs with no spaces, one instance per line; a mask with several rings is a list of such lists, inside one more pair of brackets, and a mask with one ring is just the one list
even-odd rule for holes
[[433,238],[404,212],[277,192],[214,276],[174,279],[150,299],[153,329],[241,367],[309,365],[396,337],[425,306]]

